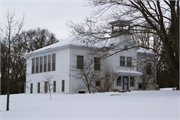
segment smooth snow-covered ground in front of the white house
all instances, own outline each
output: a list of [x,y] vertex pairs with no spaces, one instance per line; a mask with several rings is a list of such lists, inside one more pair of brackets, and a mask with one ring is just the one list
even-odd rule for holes
[[3,120],[179,120],[180,91],[132,91],[95,94],[1,95]]

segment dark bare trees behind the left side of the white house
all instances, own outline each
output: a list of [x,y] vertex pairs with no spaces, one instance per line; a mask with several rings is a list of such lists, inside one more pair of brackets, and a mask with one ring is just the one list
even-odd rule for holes
[[[22,57],[25,53],[37,50],[39,48],[58,42],[55,35],[47,29],[31,29],[22,31],[15,37],[16,40],[9,43],[6,39],[1,43],[1,94],[7,94],[9,77],[10,94],[23,93],[26,82],[26,60]],[[8,49],[11,49],[10,54]],[[8,57],[9,59],[9,75],[8,74]]]

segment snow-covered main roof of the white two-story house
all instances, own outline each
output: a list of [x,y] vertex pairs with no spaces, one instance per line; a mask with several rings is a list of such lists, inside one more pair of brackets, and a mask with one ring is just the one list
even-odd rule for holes
[[[82,38],[82,40],[81,40]],[[68,48],[68,47],[79,47],[80,49],[82,49],[82,47],[89,47],[89,48],[102,48],[102,47],[117,47],[121,44],[124,44],[125,42],[129,43],[131,46],[137,47],[136,44],[134,44],[130,38],[126,38],[126,37],[122,37],[122,38],[117,38],[117,39],[121,39],[118,43],[116,44],[111,44],[112,39],[107,39],[101,42],[96,42],[94,44],[90,43],[88,44],[88,42],[84,42],[83,39],[90,39],[90,40],[95,40],[96,37],[82,37],[82,36],[75,36],[75,37],[71,37],[62,41],[59,41],[55,44],[40,48],[38,50],[35,51],[31,51],[29,53],[26,53],[25,55],[23,55],[23,57],[27,58],[30,55],[38,55],[38,54],[43,54],[43,53],[47,53],[47,52],[54,52],[56,50],[60,50],[60,49],[64,49],[64,48]],[[149,50],[145,50],[145,49],[139,49],[137,50],[137,52],[146,52],[146,53],[153,53]]]

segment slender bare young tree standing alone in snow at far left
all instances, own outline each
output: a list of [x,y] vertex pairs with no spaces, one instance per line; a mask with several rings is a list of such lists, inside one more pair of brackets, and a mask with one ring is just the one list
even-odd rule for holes
[[20,20],[15,20],[15,12],[10,13],[8,11],[7,15],[7,25],[4,28],[1,28],[1,36],[2,40],[6,41],[5,44],[7,46],[7,74],[5,74],[7,79],[7,106],[6,110],[9,111],[9,99],[10,99],[10,79],[11,79],[11,59],[12,59],[12,51],[13,46],[15,46],[15,42],[17,41],[17,36],[19,35],[23,25],[24,25],[24,16]]

